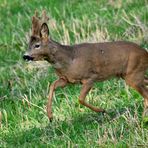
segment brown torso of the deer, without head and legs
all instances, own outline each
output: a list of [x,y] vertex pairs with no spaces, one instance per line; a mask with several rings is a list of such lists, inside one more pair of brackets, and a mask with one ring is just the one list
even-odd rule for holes
[[[131,42],[57,45],[57,48],[55,61],[51,64],[59,77],[65,78],[69,83],[82,83],[91,77],[94,81],[106,80],[112,76],[125,78],[138,66],[140,71],[148,67],[148,53]],[[60,50],[61,48],[63,49]]]

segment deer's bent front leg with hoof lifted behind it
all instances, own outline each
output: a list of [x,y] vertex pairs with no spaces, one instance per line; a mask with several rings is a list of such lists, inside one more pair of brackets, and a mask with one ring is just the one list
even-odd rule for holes
[[95,106],[92,106],[92,105],[86,103],[85,98],[91,88],[92,88],[92,83],[88,82],[88,83],[85,83],[82,85],[82,89],[81,89],[80,96],[79,96],[79,103],[90,108],[91,110],[93,110],[95,112],[105,112],[105,110],[103,110],[101,108],[97,108]]

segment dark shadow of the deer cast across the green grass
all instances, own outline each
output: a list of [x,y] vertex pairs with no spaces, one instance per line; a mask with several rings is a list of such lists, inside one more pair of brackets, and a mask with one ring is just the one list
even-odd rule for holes
[[[128,108],[119,110],[107,110],[108,114],[96,113],[80,113],[76,114],[71,120],[58,121],[53,120],[47,126],[32,127],[21,132],[11,133],[4,137],[5,142],[17,146],[32,146],[32,145],[52,145],[54,143],[64,143],[64,141],[75,141],[82,139],[84,143],[84,133],[93,131],[92,134],[97,135],[99,125],[104,125],[111,122],[115,118],[119,118],[124,113],[129,111]],[[45,124],[45,123],[44,123]],[[78,138],[79,137],[79,138]]]

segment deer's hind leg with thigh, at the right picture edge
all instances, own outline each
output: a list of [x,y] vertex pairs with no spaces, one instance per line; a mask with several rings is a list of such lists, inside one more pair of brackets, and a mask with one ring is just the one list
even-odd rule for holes
[[147,80],[144,78],[143,73],[141,72],[139,74],[136,73],[136,74],[130,75],[125,79],[125,81],[129,86],[137,90],[144,98],[143,116],[148,117],[148,88],[146,87],[148,83],[147,83]]

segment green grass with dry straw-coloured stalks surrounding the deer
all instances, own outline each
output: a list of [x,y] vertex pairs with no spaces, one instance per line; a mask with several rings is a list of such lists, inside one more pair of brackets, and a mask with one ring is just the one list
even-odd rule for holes
[[80,85],[56,91],[52,123],[46,115],[46,62],[26,63],[31,16],[48,11],[50,35],[63,44],[128,40],[148,48],[146,0],[0,1],[0,147],[148,147],[143,99],[123,80],[96,83],[87,100],[110,111],[80,106]]

